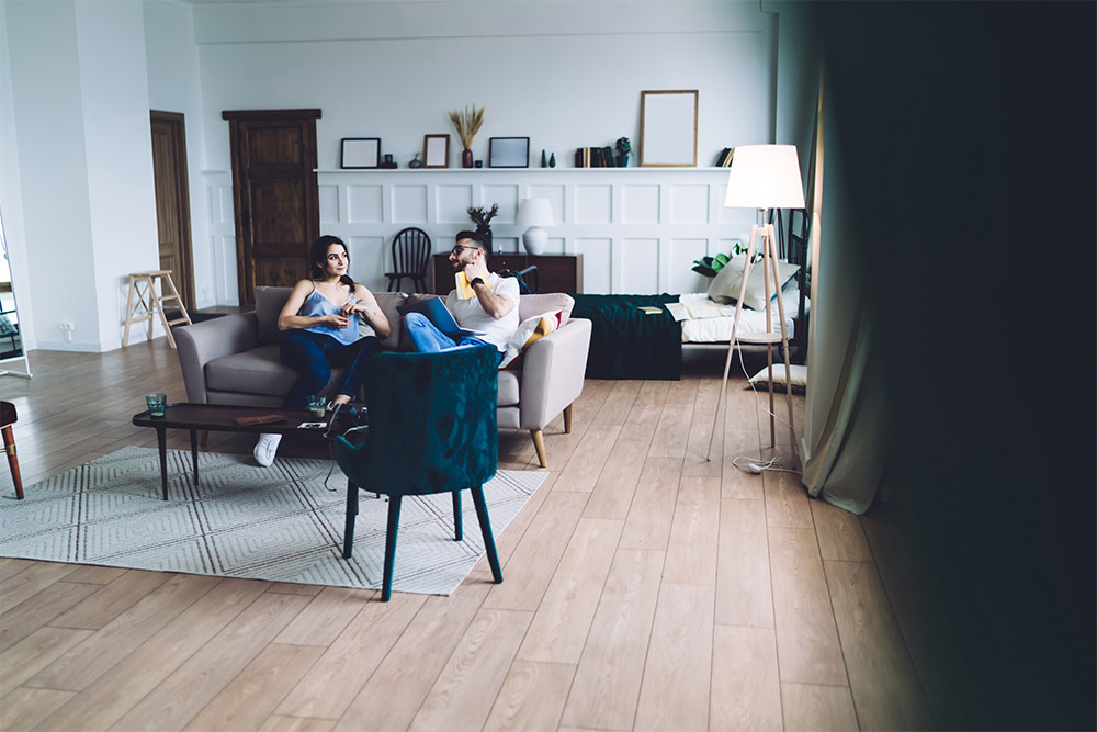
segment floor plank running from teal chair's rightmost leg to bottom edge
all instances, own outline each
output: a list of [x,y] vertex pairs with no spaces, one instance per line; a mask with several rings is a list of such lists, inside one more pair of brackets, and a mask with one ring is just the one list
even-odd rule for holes
[[336,725],[346,732],[405,730],[487,596],[463,584],[429,597]]

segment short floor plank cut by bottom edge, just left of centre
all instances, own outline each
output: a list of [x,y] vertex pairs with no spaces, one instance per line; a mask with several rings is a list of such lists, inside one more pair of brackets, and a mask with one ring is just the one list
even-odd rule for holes
[[572,664],[516,661],[484,730],[555,730],[574,674]]

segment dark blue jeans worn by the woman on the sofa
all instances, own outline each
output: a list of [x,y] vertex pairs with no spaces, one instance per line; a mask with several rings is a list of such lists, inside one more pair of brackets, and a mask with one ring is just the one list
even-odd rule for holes
[[343,369],[337,392],[353,397],[362,387],[365,359],[381,352],[381,341],[374,336],[344,346],[331,336],[309,330],[291,330],[282,337],[280,356],[299,375],[294,382],[283,409],[304,409],[308,397],[319,394],[331,379],[331,369]]

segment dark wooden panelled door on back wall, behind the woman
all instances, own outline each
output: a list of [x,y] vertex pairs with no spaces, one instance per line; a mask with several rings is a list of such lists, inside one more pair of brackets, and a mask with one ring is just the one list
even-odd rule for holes
[[223,112],[233,148],[240,304],[257,285],[292,285],[308,273],[320,235],[316,187],[319,110]]

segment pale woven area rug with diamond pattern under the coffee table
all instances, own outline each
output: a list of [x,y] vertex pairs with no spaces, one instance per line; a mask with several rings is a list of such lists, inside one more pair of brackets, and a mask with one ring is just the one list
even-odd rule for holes
[[[185,572],[338,587],[380,588],[388,502],[361,493],[354,556],[342,559],[347,481],[329,460],[123,448],[0,500],[0,556]],[[484,485],[496,537],[547,475],[504,471]],[[453,540],[451,494],[411,496],[400,508],[393,589],[449,595],[484,553],[472,496],[464,540]]]

